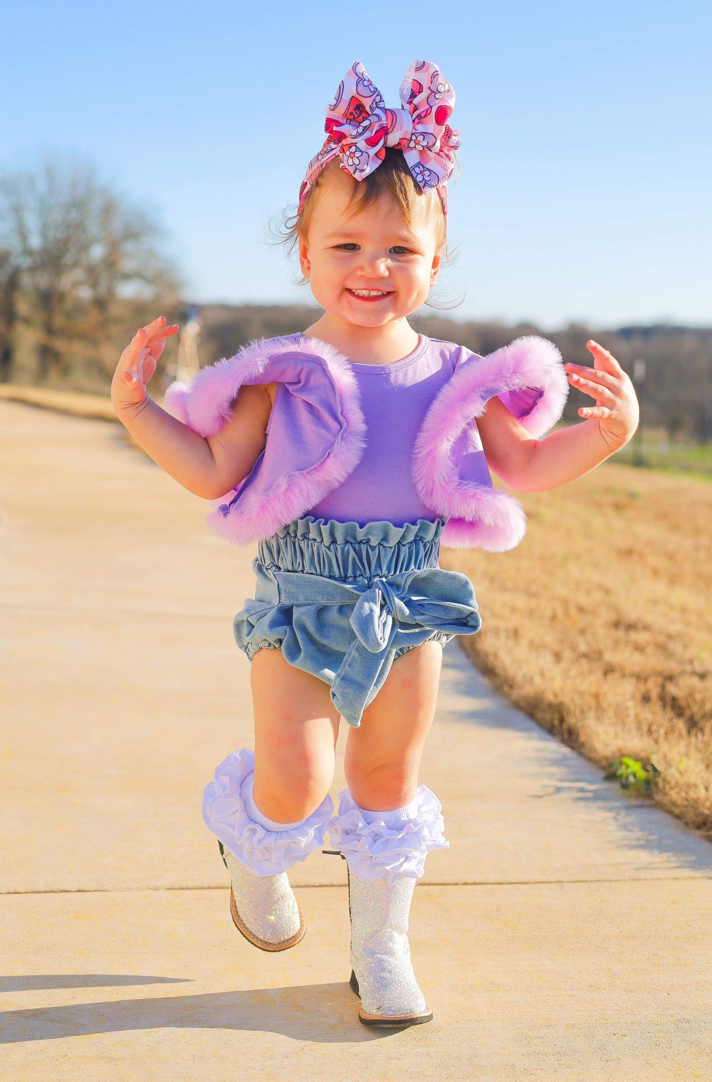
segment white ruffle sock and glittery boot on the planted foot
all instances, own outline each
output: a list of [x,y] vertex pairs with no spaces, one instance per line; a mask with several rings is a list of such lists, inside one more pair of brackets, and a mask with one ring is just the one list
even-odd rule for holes
[[433,1014],[410,961],[408,916],[431,849],[446,849],[440,803],[420,786],[394,812],[359,808],[347,789],[329,832],[348,866],[351,987],[365,1026],[414,1026]]

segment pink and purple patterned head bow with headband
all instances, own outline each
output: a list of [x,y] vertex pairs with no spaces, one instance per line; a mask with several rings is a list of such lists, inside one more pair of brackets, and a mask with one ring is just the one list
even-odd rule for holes
[[385,148],[396,147],[422,190],[437,188],[447,216],[446,182],[454,169],[453,151],[460,146],[460,132],[448,124],[454,91],[435,64],[413,61],[400,84],[400,103],[399,109],[386,109],[364,65],[358,61],[352,65],[327,106],[327,138],[307,166],[300,210],[330,161],[341,158],[341,168],[362,181],[381,164]]

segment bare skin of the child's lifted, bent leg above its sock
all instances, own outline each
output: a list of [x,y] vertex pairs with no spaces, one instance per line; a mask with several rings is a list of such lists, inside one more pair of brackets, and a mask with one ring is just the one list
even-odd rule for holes
[[260,650],[251,681],[254,803],[275,822],[298,822],[319,806],[333,781],[339,712],[328,684],[294,669],[281,650]]

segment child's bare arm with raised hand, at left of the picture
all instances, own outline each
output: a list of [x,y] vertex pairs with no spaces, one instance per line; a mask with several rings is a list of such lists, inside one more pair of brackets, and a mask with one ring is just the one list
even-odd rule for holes
[[203,438],[157,406],[146,392],[166,338],[176,331],[161,316],[136,332],[114,374],[111,401],[119,420],[154,462],[196,496],[219,499],[247,477],[264,448],[272,409],[269,388],[242,387],[222,432]]

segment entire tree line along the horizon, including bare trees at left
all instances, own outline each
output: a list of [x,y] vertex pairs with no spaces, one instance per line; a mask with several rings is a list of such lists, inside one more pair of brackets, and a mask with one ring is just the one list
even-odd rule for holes
[[[197,312],[201,365],[254,339],[304,330],[319,314],[308,304],[186,305],[181,298],[157,223],[90,166],[55,158],[0,173],[0,382],[106,392],[121,348],[157,314],[183,321]],[[414,326],[479,354],[543,333],[578,364],[590,361],[585,342],[595,338],[635,374],[646,426],[712,440],[712,327],[571,325],[542,332],[440,315],[420,315]],[[171,341],[163,367],[174,366],[176,351]],[[159,390],[164,374],[157,374]],[[565,417],[573,420],[584,401],[572,392]]]

